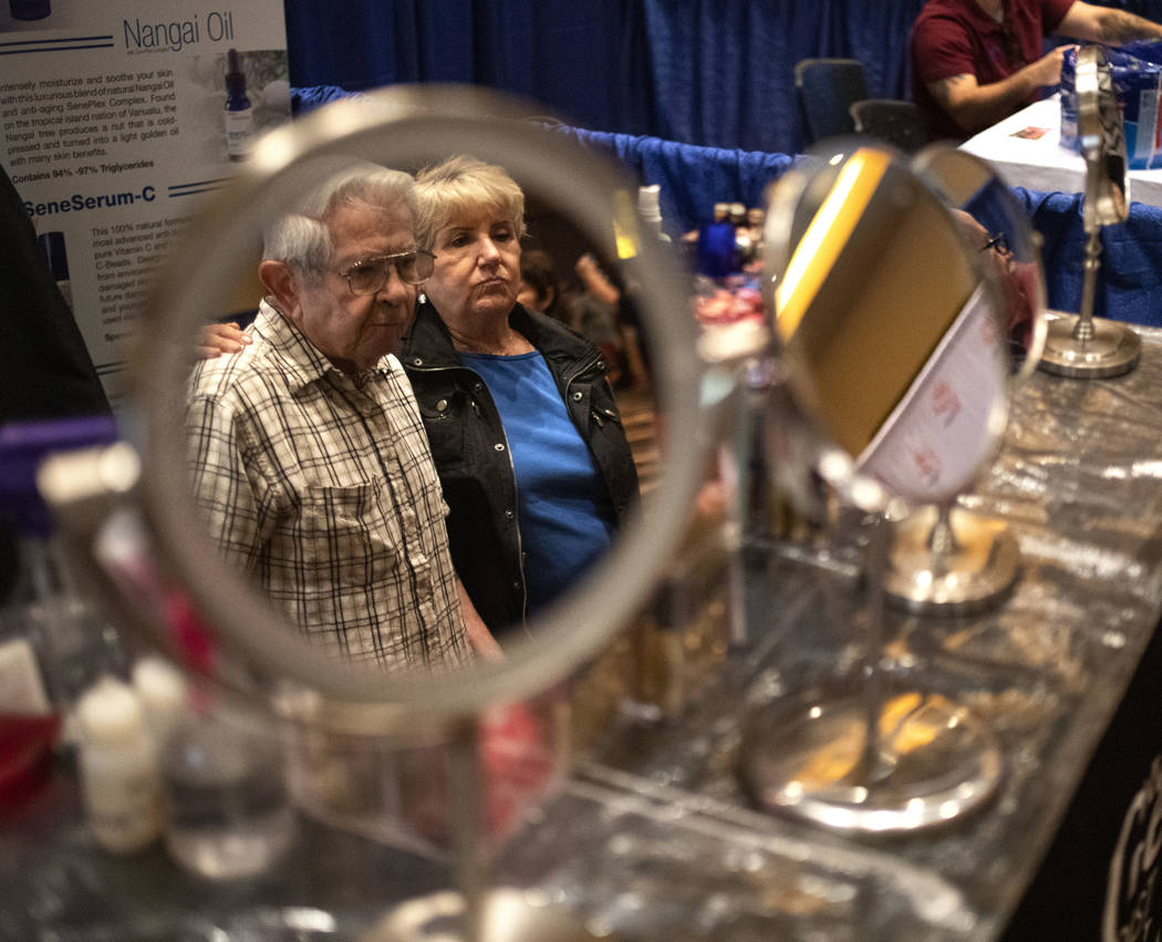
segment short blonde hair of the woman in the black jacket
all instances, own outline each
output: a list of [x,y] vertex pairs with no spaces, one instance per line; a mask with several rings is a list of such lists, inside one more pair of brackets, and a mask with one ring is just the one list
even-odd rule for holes
[[524,192],[504,167],[466,154],[416,174],[416,243],[431,251],[436,233],[461,214],[495,209],[524,235]]

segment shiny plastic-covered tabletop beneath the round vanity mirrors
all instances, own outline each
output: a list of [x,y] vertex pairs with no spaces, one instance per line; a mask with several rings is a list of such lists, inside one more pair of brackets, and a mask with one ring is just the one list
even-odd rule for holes
[[[495,878],[625,940],[995,939],[1159,620],[1162,331],[1141,333],[1128,376],[1035,374],[962,500],[1020,542],[1005,604],[888,621],[892,675],[961,699],[998,736],[1009,770],[987,809],[877,842],[754,811],[736,773],[744,718],[849,671],[859,650],[851,586],[776,556],[752,595],[751,643],[686,712],[617,730],[509,842]],[[437,862],[303,822],[274,872],[207,885],[160,850],[100,854],[67,782],[0,822],[2,939],[354,937],[393,900],[447,880]]]

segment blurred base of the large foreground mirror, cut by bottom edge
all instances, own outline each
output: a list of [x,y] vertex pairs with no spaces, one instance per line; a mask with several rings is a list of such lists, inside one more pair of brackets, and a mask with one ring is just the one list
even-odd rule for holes
[[481,900],[479,926],[467,932],[465,898],[446,890],[401,902],[366,936],[367,942],[589,942],[594,935],[562,906],[541,902],[536,891],[497,887]]

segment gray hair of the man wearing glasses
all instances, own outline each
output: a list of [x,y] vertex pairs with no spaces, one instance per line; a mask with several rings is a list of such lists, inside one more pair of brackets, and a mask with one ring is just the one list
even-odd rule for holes
[[416,190],[410,174],[364,160],[344,160],[342,170],[331,172],[292,212],[266,228],[263,258],[286,262],[303,273],[322,271],[335,254],[328,216],[343,207],[381,210],[400,204],[408,207],[415,220]]

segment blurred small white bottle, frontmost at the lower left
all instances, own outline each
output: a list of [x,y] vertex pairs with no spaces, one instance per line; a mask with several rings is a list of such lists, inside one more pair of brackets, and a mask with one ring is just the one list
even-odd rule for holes
[[131,854],[162,833],[157,751],[132,688],[112,677],[96,681],[77,706],[80,783],[98,843]]

